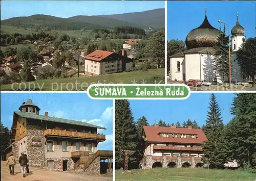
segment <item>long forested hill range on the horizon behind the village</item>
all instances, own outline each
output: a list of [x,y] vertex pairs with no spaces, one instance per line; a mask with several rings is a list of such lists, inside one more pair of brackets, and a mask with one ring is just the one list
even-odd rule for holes
[[[123,17],[122,17],[123,15]],[[109,16],[109,17],[103,17]],[[113,17],[112,17],[113,16]],[[115,17],[114,17],[115,16]],[[130,18],[129,18],[130,17]],[[28,17],[14,17],[1,21],[2,25],[20,28],[51,30],[81,30],[83,29],[114,29],[115,27],[130,26],[136,28],[153,29],[164,28],[164,9],[145,11],[140,13],[125,13],[101,16],[73,16],[60,18],[50,15],[32,15]]]

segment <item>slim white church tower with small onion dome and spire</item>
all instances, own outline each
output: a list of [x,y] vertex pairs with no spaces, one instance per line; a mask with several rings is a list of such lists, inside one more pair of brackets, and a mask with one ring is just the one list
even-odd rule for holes
[[238,21],[238,14],[237,14],[237,23],[231,30],[231,39],[232,39],[232,51],[237,51],[245,42],[244,36],[244,28],[240,25]]

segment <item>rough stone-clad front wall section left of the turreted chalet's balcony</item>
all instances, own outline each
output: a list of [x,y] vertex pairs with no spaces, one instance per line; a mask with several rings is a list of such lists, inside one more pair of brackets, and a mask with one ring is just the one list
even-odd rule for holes
[[27,152],[31,166],[44,167],[44,130],[41,127],[27,127]]

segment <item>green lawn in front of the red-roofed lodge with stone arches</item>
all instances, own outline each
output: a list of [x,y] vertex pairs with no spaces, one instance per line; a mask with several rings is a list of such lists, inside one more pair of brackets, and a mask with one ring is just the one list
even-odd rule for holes
[[213,170],[204,168],[135,169],[123,173],[116,170],[115,181],[254,181],[255,174],[242,170]]

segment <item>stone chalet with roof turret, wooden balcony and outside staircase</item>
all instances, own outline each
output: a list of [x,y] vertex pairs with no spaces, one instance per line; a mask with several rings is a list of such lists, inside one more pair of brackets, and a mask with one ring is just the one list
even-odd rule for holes
[[[26,153],[31,166],[56,171],[75,171],[87,174],[112,173],[113,151],[98,150],[105,129],[81,121],[39,115],[40,108],[31,99],[14,111],[11,145],[7,156],[18,158]],[[108,162],[105,162],[108,160]]]

